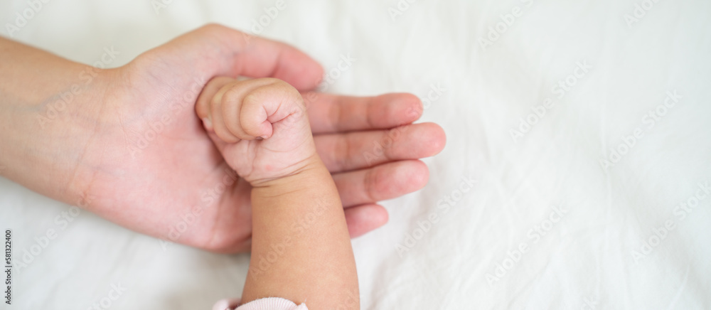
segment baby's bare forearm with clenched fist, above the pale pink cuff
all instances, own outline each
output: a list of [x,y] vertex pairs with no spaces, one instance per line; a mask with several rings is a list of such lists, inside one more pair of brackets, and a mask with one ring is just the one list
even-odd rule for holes
[[253,186],[242,303],[277,296],[312,310],[360,309],[343,208],[299,92],[271,78],[218,77],[196,111],[228,164]]

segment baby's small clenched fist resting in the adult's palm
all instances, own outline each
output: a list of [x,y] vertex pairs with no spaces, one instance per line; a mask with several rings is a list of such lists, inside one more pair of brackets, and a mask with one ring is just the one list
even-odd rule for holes
[[287,82],[215,77],[196,112],[225,161],[252,186],[320,162],[304,100]]

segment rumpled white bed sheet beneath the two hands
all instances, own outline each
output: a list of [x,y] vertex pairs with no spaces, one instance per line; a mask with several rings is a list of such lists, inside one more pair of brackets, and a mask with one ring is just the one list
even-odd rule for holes
[[[118,66],[204,23],[249,29],[275,3],[159,1],[53,0],[13,36],[82,63],[113,46]],[[711,196],[697,191],[711,181],[711,2],[410,1],[287,1],[260,32],[326,70],[356,58],[329,92],[431,96],[422,121],[447,132],[428,186],[353,240],[362,308],[711,309]],[[27,7],[0,3],[3,28]],[[86,212],[61,229],[68,210],[0,178],[16,257],[58,234],[0,307],[89,309],[122,287],[110,309],[209,309],[242,290],[247,255],[164,248]]]

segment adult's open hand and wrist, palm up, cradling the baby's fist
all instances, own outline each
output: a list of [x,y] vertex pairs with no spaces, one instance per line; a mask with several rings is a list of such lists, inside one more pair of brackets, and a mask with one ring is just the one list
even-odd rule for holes
[[[23,146],[0,164],[24,162],[4,174],[132,230],[215,252],[249,250],[250,185],[225,164],[194,105],[212,77],[276,77],[302,92],[349,232],[363,235],[387,221],[377,201],[427,183],[427,167],[417,159],[441,151],[444,132],[436,124],[411,124],[422,112],[412,95],[310,92],[322,75],[318,63],[291,46],[203,26],[123,67],[90,73],[90,82],[68,75],[62,86],[46,87],[55,95],[38,100],[39,114],[73,91],[71,85],[80,91],[51,122],[0,137],[0,145]],[[12,95],[9,87],[1,90]],[[16,119],[33,118],[22,113]]]

